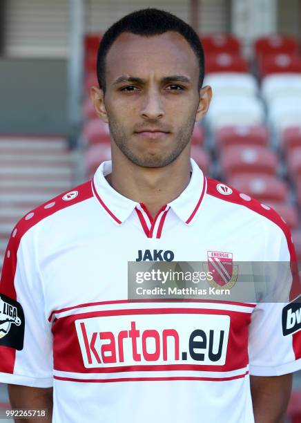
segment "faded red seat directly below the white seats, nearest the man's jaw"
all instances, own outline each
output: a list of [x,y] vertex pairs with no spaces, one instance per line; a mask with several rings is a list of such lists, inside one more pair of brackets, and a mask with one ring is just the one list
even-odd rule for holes
[[230,145],[252,144],[266,145],[269,140],[269,131],[266,126],[224,126],[215,132],[215,142],[218,149]]

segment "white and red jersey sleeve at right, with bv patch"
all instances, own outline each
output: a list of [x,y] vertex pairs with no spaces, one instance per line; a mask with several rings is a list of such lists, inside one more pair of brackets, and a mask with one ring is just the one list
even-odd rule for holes
[[[274,242],[277,242],[277,237]],[[279,242],[278,261],[269,265],[273,275],[270,285],[275,286],[276,294],[271,295],[273,302],[262,301],[255,306],[249,328],[250,375],[256,376],[285,375],[301,368],[301,326],[298,325],[298,316],[290,317],[290,325],[293,319],[295,321],[287,330],[287,310],[298,308],[297,314],[300,316],[301,306],[300,300],[297,306],[295,301],[291,302],[298,292],[300,294],[300,279],[288,228]]]

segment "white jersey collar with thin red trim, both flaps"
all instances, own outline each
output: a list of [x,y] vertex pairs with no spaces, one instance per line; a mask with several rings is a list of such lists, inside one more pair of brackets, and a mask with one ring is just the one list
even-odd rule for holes
[[[92,179],[92,189],[101,206],[115,223],[120,225],[133,213],[135,207],[139,207],[139,203],[122,196],[110,186],[106,176],[111,171],[111,161],[101,163]],[[179,197],[167,205],[186,225],[193,223],[206,192],[206,178],[193,159],[191,171],[191,180],[187,187]]]

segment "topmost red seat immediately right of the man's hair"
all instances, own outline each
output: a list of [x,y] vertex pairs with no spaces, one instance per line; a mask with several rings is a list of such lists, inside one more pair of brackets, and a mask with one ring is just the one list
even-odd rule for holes
[[201,37],[201,41],[206,55],[211,55],[211,53],[240,55],[240,40],[233,35],[211,34]]

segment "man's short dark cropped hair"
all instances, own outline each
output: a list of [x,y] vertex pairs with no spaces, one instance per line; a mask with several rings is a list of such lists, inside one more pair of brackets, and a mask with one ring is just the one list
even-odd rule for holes
[[114,41],[123,32],[130,32],[144,37],[161,35],[167,31],[179,32],[193,49],[200,65],[199,86],[204,80],[204,50],[197,33],[188,23],[164,10],[148,8],[137,10],[113,23],[104,33],[97,53],[97,79],[99,87],[106,90],[106,55]]

